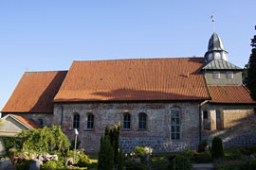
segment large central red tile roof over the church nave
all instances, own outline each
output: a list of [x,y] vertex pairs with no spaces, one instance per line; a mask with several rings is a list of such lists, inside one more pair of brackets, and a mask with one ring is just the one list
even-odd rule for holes
[[74,61],[54,101],[208,99],[203,65],[204,58]]

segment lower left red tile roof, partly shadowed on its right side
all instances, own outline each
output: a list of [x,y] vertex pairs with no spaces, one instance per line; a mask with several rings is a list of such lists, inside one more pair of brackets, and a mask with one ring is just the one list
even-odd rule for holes
[[67,71],[25,73],[1,112],[53,112],[53,98]]

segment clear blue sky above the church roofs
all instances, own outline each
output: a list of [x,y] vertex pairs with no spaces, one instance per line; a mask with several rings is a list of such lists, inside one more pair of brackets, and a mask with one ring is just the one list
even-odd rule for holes
[[215,16],[229,61],[244,67],[255,0],[2,0],[0,110],[26,71],[73,60],[203,57]]

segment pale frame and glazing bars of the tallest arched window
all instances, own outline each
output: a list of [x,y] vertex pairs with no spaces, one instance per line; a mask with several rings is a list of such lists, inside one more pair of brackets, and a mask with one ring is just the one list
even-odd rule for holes
[[[177,112],[178,112],[178,116],[176,114]],[[177,108],[177,107],[172,108],[170,117],[171,117],[171,124],[170,124],[171,137],[170,137],[170,139],[174,140],[174,141],[180,141],[181,140],[181,109]],[[178,124],[177,124],[177,119],[179,120]],[[173,120],[174,120],[174,124],[173,124]],[[177,130],[177,127],[178,127],[178,130]],[[178,137],[177,137],[177,134],[178,134]]]

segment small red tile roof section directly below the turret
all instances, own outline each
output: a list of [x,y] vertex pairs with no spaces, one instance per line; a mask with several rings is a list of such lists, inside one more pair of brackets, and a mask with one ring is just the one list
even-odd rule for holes
[[209,86],[210,103],[256,104],[245,86]]

